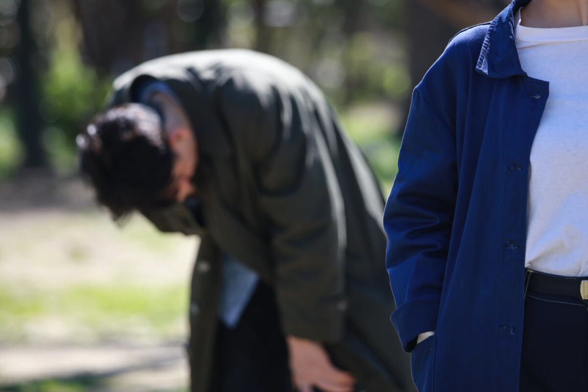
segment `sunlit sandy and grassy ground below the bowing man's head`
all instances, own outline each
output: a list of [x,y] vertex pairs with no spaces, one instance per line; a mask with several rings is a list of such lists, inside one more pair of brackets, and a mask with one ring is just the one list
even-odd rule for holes
[[0,342],[185,336],[195,238],[97,212],[0,222]]

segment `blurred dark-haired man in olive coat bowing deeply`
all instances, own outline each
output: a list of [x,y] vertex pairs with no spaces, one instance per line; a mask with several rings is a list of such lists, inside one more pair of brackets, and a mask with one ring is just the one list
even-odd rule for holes
[[115,218],[199,234],[192,391],[410,391],[388,315],[383,197],[322,92],[250,51],[126,72],[78,136]]

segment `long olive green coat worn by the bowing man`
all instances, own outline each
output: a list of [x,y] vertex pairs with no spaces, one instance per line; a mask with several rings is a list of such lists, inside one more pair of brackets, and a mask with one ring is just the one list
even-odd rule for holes
[[111,105],[135,100],[142,78],[176,93],[199,146],[205,229],[183,205],[144,212],[162,231],[202,236],[192,390],[210,390],[220,251],[272,284],[286,334],[323,342],[366,392],[413,390],[409,357],[389,321],[383,198],[322,92],[271,56],[203,51],[124,73]]

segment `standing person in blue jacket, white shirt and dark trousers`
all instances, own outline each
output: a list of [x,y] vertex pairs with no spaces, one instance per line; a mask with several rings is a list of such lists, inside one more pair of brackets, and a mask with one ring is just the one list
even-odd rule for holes
[[587,124],[586,0],[513,1],[416,87],[384,224],[419,391],[588,390]]

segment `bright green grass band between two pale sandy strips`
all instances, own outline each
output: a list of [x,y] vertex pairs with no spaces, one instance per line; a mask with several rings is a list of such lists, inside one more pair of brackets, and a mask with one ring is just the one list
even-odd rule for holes
[[[43,328],[59,320],[71,334],[77,331],[92,340],[124,337],[166,339],[181,333],[188,309],[188,287],[141,286],[124,282],[76,284],[61,290],[0,287],[0,336],[28,341],[28,327]],[[49,320],[49,321],[48,321]],[[129,336],[127,336],[129,337]]]

